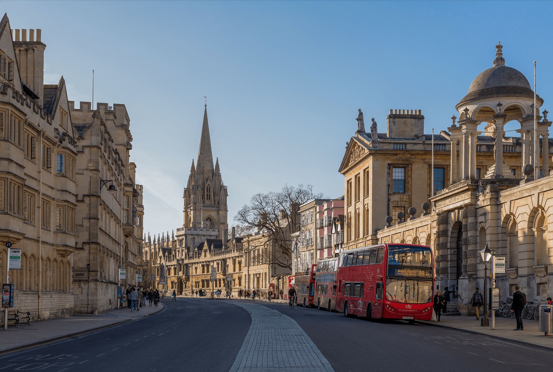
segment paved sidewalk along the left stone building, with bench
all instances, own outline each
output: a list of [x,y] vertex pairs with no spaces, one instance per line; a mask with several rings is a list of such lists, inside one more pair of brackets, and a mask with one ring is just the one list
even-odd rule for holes
[[98,315],[74,314],[71,317],[30,322],[29,326],[18,324],[17,328],[8,327],[7,331],[0,330],[0,354],[112,327],[151,315],[162,309],[163,303],[160,303],[158,307],[143,306],[140,311],[131,311],[127,308],[114,309]]

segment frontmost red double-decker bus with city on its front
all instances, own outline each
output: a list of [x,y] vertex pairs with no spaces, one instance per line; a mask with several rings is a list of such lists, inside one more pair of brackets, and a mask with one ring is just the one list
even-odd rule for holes
[[340,255],[336,308],[345,316],[432,318],[434,260],[427,245],[379,244]]

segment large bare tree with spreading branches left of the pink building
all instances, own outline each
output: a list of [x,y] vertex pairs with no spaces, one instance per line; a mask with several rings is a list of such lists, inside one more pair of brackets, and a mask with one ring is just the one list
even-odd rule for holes
[[258,193],[249,205],[244,205],[234,216],[239,231],[263,233],[265,238],[255,239],[249,247],[244,244],[244,253],[252,252],[252,260],[263,264],[276,264],[291,269],[292,254],[290,234],[301,230],[300,206],[314,198],[324,198],[322,193],[314,194],[313,186],[284,185],[280,192]]

